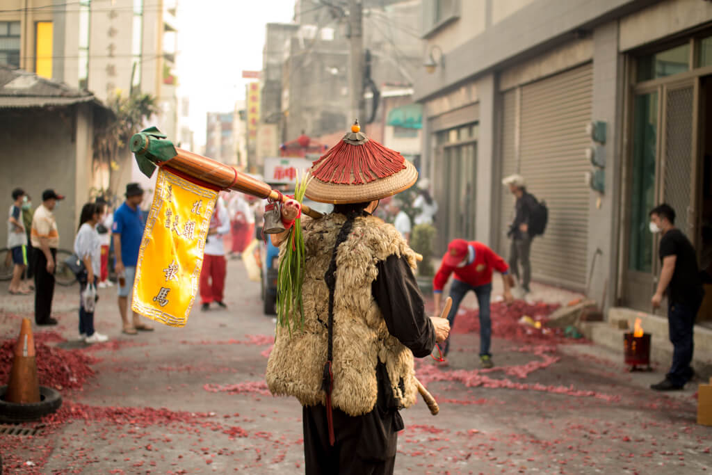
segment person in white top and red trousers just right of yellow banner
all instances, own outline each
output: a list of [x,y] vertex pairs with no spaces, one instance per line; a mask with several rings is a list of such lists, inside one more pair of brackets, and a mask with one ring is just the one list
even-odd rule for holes
[[210,221],[208,238],[205,241],[203,268],[200,273],[200,299],[202,310],[208,310],[215,302],[222,308],[227,308],[224,302],[225,276],[227,261],[225,260],[225,245],[223,236],[230,232],[230,219],[222,199],[215,203],[215,211]]

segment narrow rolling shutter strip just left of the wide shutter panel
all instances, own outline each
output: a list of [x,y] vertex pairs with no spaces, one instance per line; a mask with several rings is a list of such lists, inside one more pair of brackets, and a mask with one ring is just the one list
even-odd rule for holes
[[[518,171],[517,164],[517,100],[518,91],[516,89],[508,90],[502,95],[502,157],[501,157],[501,173],[502,178],[515,174]],[[507,237],[509,224],[514,219],[514,195],[509,191],[509,187],[505,187],[500,182],[497,184],[500,188],[500,212],[499,212],[499,242],[498,252],[500,256],[509,257],[510,240]]]

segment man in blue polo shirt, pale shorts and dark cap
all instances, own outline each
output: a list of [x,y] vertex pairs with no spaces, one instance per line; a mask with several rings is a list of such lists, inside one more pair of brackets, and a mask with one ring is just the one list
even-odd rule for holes
[[143,238],[145,223],[139,205],[143,201],[143,189],[138,183],[126,185],[126,201],[114,213],[112,234],[116,256],[116,274],[119,277],[119,312],[123,322],[123,333],[136,335],[137,330],[152,331],[153,328],[141,323],[139,315],[133,313],[133,323],[128,318],[128,301],[136,276],[138,253]]

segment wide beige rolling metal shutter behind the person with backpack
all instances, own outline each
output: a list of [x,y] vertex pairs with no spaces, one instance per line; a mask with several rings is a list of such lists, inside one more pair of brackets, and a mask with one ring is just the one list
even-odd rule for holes
[[592,81],[589,63],[521,88],[519,172],[549,208],[546,232],[532,246],[533,279],[576,290],[586,286]]

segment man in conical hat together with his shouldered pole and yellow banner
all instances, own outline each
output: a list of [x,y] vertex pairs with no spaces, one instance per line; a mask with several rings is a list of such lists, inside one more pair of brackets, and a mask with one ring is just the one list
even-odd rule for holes
[[[161,167],[133,308],[183,326],[192,306],[186,289],[200,271],[199,243],[217,191],[285,200],[231,167],[176,149],[158,130],[135,135],[131,147],[143,172]],[[417,254],[393,226],[371,215],[379,199],[411,187],[418,174],[354,125],[314,163],[311,175],[306,196],[335,204],[335,211],[323,216],[295,200],[277,209],[286,228],[273,235],[275,244],[284,244],[281,269],[291,251],[304,254],[300,272],[289,276],[300,281],[300,305],[280,315],[296,324],[278,320],[266,380],[273,394],[297,397],[303,405],[308,474],[392,474],[403,429],[399,409],[420,393],[437,412],[415,377],[414,355],[429,355],[449,335],[445,318],[425,315],[412,272]],[[300,212],[313,219],[293,226]],[[302,232],[303,241],[295,239]]]

